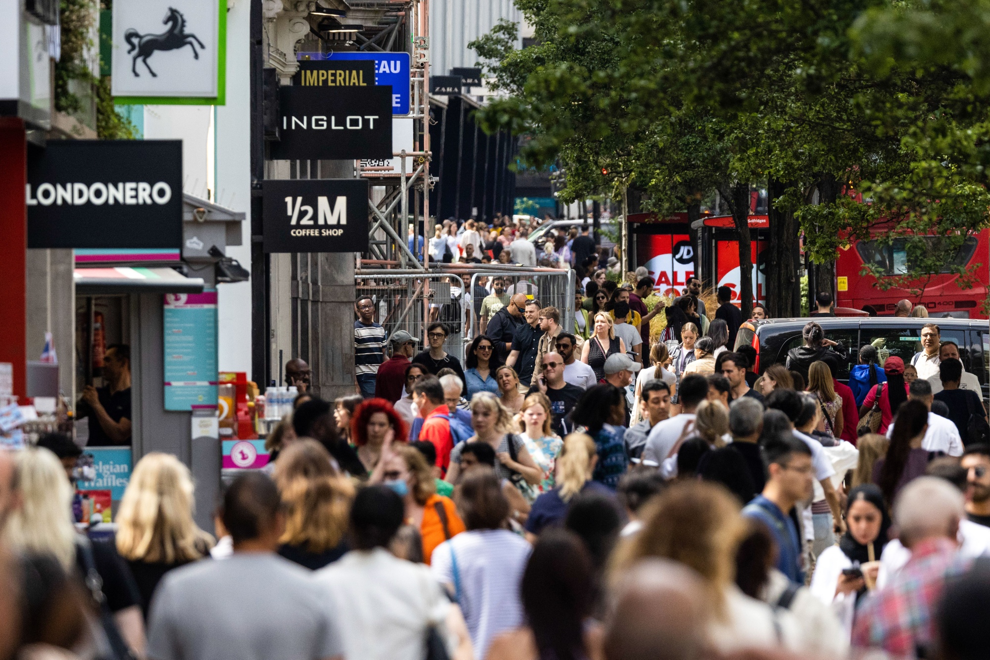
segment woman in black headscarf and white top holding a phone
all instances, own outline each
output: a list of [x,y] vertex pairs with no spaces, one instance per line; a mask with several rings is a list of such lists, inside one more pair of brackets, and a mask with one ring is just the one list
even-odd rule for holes
[[[832,605],[848,637],[856,602],[866,595],[867,584],[876,583],[880,553],[888,540],[890,517],[880,489],[873,484],[853,488],[845,507],[845,522],[847,529],[839,545],[818,556],[811,592]],[[847,570],[856,568],[858,574]]]

